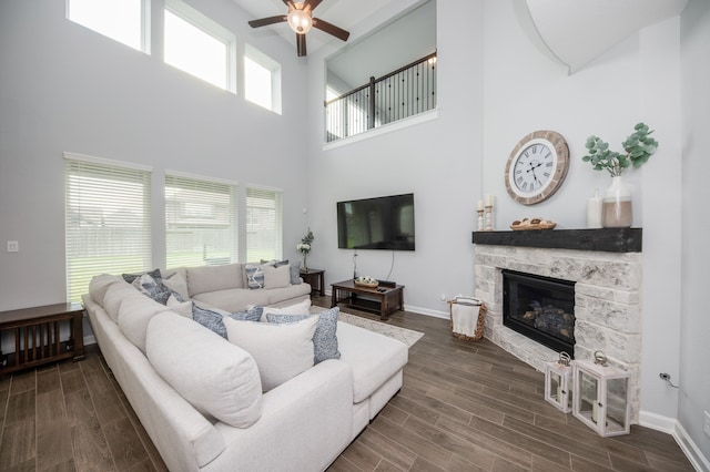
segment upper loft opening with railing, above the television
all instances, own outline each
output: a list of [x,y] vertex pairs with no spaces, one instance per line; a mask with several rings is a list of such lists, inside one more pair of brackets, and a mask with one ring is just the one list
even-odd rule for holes
[[326,61],[326,142],[435,110],[436,72],[436,1],[427,0]]

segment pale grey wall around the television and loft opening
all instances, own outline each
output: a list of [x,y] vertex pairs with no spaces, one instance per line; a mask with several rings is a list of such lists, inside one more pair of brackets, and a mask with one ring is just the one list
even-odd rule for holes
[[[352,40],[415,3],[389,2],[353,29]],[[470,238],[481,196],[481,21],[478,1],[437,2],[437,119],[324,151],[323,109],[310,111],[308,222],[315,242],[308,264],[326,269],[326,284],[353,276],[354,252],[337,248],[336,202],[414,192],[416,250],[394,253],[392,274],[393,253],[358,250],[358,275],[405,285],[405,306],[435,316],[448,316],[442,294],[473,293]],[[331,51],[308,57],[314,103],[324,96]]]

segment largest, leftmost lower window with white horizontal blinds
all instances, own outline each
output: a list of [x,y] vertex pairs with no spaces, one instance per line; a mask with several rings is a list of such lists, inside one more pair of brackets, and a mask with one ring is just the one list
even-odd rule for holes
[[98,274],[151,268],[151,170],[64,154],[67,297]]

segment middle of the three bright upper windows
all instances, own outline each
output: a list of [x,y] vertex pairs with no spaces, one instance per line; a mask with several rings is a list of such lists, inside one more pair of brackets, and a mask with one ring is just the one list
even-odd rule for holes
[[179,0],[165,1],[164,32],[168,64],[236,92],[234,34]]

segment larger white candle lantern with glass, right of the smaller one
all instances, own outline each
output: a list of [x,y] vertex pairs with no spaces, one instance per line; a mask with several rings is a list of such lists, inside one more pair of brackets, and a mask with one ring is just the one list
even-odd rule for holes
[[602,352],[595,360],[577,360],[572,414],[601,437],[628,434],[629,372],[609,366]]

